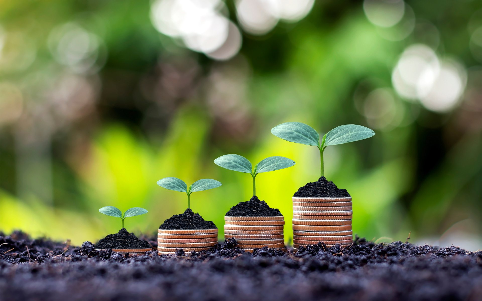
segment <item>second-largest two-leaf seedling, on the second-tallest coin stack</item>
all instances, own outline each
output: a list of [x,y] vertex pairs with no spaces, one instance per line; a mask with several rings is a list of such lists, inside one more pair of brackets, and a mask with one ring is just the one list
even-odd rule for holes
[[214,160],[214,163],[224,167],[228,170],[241,171],[251,174],[253,177],[253,196],[256,195],[256,175],[260,172],[267,172],[273,170],[282,170],[283,168],[292,167],[295,165],[295,161],[288,159],[287,157],[267,157],[258,164],[253,165],[251,162],[243,156],[236,154],[229,154],[218,157]]

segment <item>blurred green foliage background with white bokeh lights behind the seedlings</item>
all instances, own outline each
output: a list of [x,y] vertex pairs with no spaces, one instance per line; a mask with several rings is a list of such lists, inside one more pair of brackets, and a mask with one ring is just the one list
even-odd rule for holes
[[354,233],[482,249],[481,63],[477,0],[0,1],[0,230],[96,241],[110,205],[154,234],[187,206],[173,176],[223,183],[191,196],[222,237],[252,189],[213,163],[235,153],[296,161],[257,177],[289,239],[319,153],[270,129],[300,121],[376,132],[325,151]]

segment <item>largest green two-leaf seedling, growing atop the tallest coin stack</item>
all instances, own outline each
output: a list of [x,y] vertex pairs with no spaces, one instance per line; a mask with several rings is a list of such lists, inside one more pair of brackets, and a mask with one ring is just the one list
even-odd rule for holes
[[281,139],[289,142],[318,147],[318,149],[320,149],[321,176],[324,175],[323,151],[325,150],[326,146],[363,140],[375,135],[375,132],[369,128],[356,124],[346,124],[336,127],[335,129],[324,134],[320,144],[320,135],[318,132],[309,125],[301,122],[281,123],[280,125],[272,128],[271,133],[273,133],[273,135],[276,137],[280,137]]

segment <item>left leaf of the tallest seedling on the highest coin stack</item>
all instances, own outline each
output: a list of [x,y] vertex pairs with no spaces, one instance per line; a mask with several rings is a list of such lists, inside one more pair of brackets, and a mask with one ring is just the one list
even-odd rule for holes
[[271,129],[271,133],[283,140],[320,146],[320,135],[309,125],[301,122],[285,122]]

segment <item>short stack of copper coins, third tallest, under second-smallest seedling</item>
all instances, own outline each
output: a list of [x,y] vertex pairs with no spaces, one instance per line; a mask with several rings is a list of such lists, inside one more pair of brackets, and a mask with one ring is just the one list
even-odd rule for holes
[[185,252],[202,251],[217,244],[218,229],[166,230],[159,229],[157,235],[158,253],[172,254],[176,249]]

